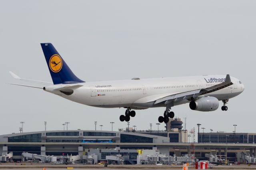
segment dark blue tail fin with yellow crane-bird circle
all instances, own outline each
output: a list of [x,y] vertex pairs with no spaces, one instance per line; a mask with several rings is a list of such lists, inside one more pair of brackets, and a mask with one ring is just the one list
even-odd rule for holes
[[70,70],[58,51],[51,43],[41,43],[53,84],[82,83]]

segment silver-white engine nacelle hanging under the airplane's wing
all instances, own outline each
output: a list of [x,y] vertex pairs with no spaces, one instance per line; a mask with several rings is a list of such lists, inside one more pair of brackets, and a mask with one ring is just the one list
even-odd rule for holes
[[219,107],[219,101],[215,97],[203,97],[196,101],[191,101],[189,107],[195,111],[215,111]]

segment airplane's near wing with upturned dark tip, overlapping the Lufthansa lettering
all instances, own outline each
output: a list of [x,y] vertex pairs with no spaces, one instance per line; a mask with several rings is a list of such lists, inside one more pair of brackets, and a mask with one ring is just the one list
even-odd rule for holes
[[233,83],[231,82],[230,75],[227,74],[226,79],[223,83],[220,83],[218,85],[214,85],[214,86],[211,86],[211,87],[207,87],[205,89],[197,89],[197,90],[193,90],[193,91],[186,91],[186,92],[182,92],[182,93],[177,93],[177,94],[174,94],[174,95],[168,95],[166,97],[162,97],[160,99],[157,99],[154,102],[154,104],[164,102],[164,104],[167,105],[171,102],[182,101],[184,99],[194,99],[194,98],[196,98],[200,95],[205,95],[207,93],[212,93],[214,91],[218,91],[218,90],[223,89],[225,87],[228,87],[232,84]]

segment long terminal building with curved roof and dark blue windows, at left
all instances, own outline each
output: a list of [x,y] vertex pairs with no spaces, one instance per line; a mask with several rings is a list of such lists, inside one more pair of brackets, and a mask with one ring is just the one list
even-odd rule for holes
[[[22,152],[54,156],[84,155],[86,150],[92,148],[152,149],[152,144],[168,142],[170,138],[165,136],[135,132],[96,130],[24,132],[1,135],[0,155],[13,152],[14,159],[19,159]],[[150,146],[142,145],[146,143]]]

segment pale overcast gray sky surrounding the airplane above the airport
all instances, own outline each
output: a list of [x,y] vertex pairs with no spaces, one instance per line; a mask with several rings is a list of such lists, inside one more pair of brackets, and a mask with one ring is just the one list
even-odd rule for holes
[[[18,87],[9,75],[52,81],[40,47],[51,42],[72,71],[84,81],[133,77],[227,74],[245,85],[230,99],[228,111],[172,108],[187,117],[187,129],[255,131],[256,1],[66,1],[0,0],[0,134],[69,129],[127,127],[125,109],[81,105],[40,89]],[[220,106],[222,103],[220,103]],[[164,108],[136,111],[130,126],[157,129]],[[97,128],[100,127],[97,125]],[[164,123],[159,127],[164,129]]]

